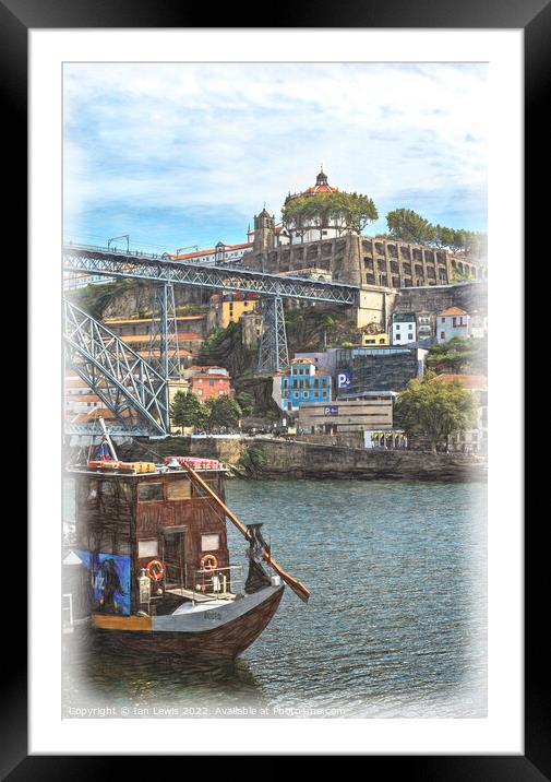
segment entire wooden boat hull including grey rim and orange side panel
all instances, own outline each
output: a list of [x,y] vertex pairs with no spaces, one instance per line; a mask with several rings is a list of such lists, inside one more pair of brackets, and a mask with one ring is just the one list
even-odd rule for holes
[[[283,585],[268,586],[219,611],[203,606],[194,609],[193,616],[172,614],[141,618],[95,615],[92,624],[101,642],[113,651],[233,659],[248,649],[269,624],[284,589]],[[115,623],[116,619],[119,621]],[[213,626],[208,627],[208,624]]]

